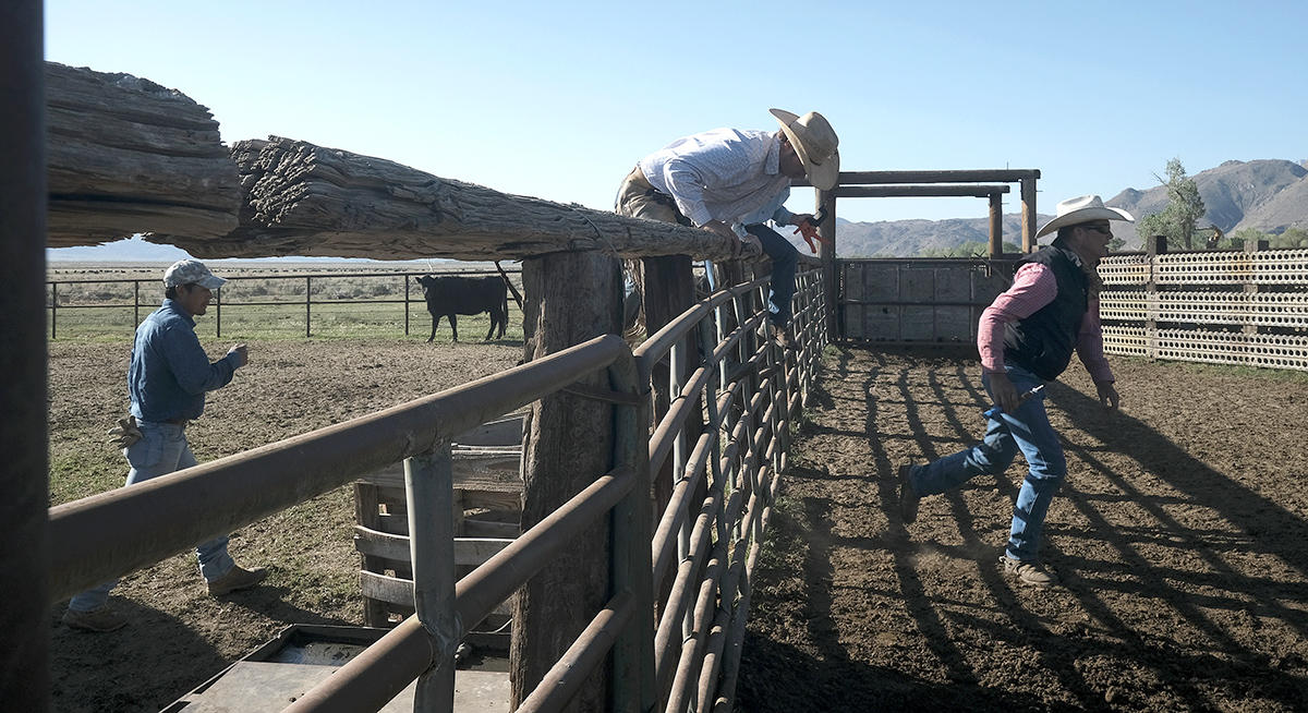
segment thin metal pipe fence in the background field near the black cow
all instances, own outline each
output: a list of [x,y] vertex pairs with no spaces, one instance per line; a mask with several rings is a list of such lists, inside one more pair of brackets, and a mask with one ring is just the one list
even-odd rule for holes
[[[521,275],[521,268],[505,268],[506,275]],[[408,336],[411,331],[412,310],[409,305],[419,304],[425,305],[422,290],[413,289],[413,277],[421,277],[424,275],[437,275],[437,276],[460,276],[460,277],[477,277],[477,276],[498,276],[500,272],[494,270],[450,270],[450,271],[421,271],[421,272],[320,272],[310,275],[233,275],[225,276],[228,285],[213,290],[213,328],[215,338],[222,336],[222,313],[224,309],[228,311],[228,321],[232,321],[233,310],[247,309],[247,307],[264,307],[264,309],[284,309],[284,310],[298,310],[303,309],[303,324],[305,336],[313,336],[313,314],[314,305],[318,306],[337,306],[337,305],[368,305],[368,306],[385,306],[385,305],[404,305],[404,335]],[[403,283],[402,288],[395,288],[394,290],[385,290],[382,294],[396,294],[403,297],[387,298],[387,297],[371,297],[371,298],[345,298],[345,297],[327,297],[324,298],[323,284],[330,281],[341,280],[365,280],[375,283],[383,283],[386,279],[399,279]],[[314,280],[318,280],[318,290],[315,294]],[[302,283],[302,289],[288,289],[281,290],[288,293],[285,300],[233,300],[230,296],[233,293],[239,294],[241,289],[246,284],[255,283],[286,283],[297,284]],[[132,285],[131,288],[131,301],[116,301],[119,296],[111,294],[114,290],[89,290],[86,285]],[[141,285],[148,285],[143,302]],[[60,294],[60,285],[64,285],[63,294]],[[298,287],[298,285],[297,285]],[[515,287],[521,287],[519,284]],[[50,338],[59,338],[59,313],[67,310],[131,310],[132,321],[124,324],[127,334],[132,334],[136,326],[141,323],[141,310],[153,311],[160,301],[164,298],[164,287],[158,277],[119,277],[119,279],[78,279],[78,280],[47,280],[46,281],[47,298],[46,310],[50,314]],[[246,288],[251,289],[251,288]],[[268,290],[260,288],[260,294],[266,294]],[[365,288],[364,292],[369,289],[375,290],[375,287]],[[88,296],[86,292],[92,294]],[[224,298],[224,292],[229,296]],[[252,292],[252,289],[251,289]],[[252,297],[256,297],[252,294]],[[294,297],[293,300],[289,297]],[[419,315],[424,314],[424,310],[419,311]],[[229,328],[230,332],[230,328]]]

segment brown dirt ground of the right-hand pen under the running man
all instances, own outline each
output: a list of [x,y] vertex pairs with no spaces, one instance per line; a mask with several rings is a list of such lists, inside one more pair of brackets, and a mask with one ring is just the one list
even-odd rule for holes
[[1308,379],[1113,360],[1049,389],[1053,590],[995,560],[1024,463],[922,501],[895,466],[984,433],[974,358],[841,349],[783,481],[743,710],[1308,709]]

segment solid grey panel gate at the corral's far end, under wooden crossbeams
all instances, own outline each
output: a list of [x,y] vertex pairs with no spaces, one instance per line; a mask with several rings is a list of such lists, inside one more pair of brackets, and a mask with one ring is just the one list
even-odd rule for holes
[[981,311],[1008,287],[974,260],[876,259],[845,263],[845,338],[973,343]]

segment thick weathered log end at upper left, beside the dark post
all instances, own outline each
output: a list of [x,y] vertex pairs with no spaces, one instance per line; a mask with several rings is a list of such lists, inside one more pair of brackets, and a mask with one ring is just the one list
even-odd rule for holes
[[48,247],[237,228],[235,165],[209,110],[131,75],[46,63]]

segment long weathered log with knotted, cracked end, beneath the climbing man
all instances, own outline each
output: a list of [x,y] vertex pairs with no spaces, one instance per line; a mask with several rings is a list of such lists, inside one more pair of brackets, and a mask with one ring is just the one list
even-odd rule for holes
[[508,195],[394,161],[292,139],[237,141],[241,225],[213,238],[157,232],[199,258],[311,255],[466,260],[599,251],[725,259],[735,241],[681,225]]

